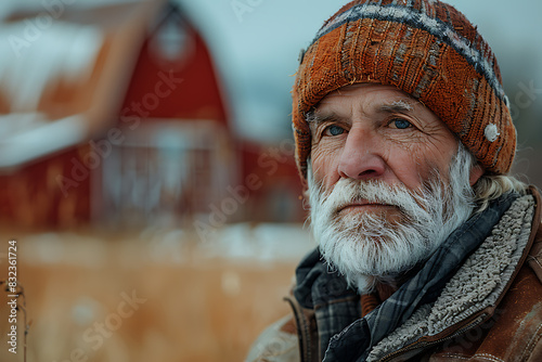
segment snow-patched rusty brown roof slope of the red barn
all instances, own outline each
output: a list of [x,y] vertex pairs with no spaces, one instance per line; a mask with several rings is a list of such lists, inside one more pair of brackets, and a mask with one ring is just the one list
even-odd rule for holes
[[3,1],[0,168],[113,126],[146,30],[164,1]]

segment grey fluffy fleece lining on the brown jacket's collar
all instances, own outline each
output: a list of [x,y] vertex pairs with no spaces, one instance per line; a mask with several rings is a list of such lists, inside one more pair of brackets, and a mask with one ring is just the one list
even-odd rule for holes
[[467,258],[434,305],[421,307],[403,325],[377,344],[367,362],[378,361],[423,336],[435,336],[495,303],[529,241],[534,197],[516,199],[491,235]]

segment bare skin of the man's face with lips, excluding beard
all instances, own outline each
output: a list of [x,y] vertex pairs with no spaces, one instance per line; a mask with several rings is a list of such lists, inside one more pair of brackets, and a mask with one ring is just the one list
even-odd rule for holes
[[[457,140],[422,103],[392,86],[354,85],[327,94],[310,122],[312,170],[330,192],[340,179],[420,189],[433,170],[448,174]],[[396,210],[351,205],[340,212]]]

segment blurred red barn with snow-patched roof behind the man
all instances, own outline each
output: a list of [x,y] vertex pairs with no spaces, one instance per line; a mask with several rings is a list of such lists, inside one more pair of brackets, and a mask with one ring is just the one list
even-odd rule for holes
[[[235,141],[199,31],[163,1],[54,3],[13,1],[0,24],[1,222],[205,220],[264,150]],[[275,215],[302,218],[292,156],[228,221],[269,219],[264,203],[278,199]]]

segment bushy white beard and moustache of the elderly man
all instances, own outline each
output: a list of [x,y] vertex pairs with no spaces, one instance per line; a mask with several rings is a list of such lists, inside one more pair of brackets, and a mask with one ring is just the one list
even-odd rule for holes
[[[472,165],[473,156],[460,144],[447,184],[438,172],[414,192],[382,181],[340,179],[327,195],[309,169],[311,229],[323,257],[362,294],[377,282],[392,284],[427,260],[473,214]],[[341,207],[361,199],[397,206],[401,218],[389,221],[384,212],[338,216]]]

